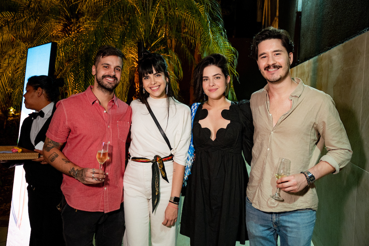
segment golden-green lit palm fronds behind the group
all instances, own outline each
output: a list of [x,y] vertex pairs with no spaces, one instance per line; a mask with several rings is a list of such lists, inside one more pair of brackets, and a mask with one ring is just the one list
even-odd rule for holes
[[[27,49],[58,44],[55,75],[63,77],[66,96],[93,84],[93,57],[101,45],[125,54],[117,97],[127,100],[138,62],[137,44],[161,53],[169,65],[173,90],[179,92],[183,71],[211,53],[222,53],[237,78],[237,51],[227,41],[220,6],[215,0],[6,0],[0,12],[0,103],[20,108]],[[232,83],[231,80],[231,83]],[[233,87],[228,94],[236,100]]]

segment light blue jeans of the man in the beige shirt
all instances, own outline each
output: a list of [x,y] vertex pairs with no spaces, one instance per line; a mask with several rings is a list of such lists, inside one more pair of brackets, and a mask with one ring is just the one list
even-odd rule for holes
[[246,197],[246,225],[250,246],[310,246],[316,211],[263,212]]

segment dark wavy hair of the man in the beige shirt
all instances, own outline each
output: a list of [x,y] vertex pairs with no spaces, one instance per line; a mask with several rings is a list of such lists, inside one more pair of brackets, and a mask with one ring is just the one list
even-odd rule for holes
[[277,29],[274,27],[267,27],[255,35],[251,44],[251,57],[258,60],[258,45],[264,40],[280,39],[282,45],[287,52],[293,52],[293,41],[286,30]]

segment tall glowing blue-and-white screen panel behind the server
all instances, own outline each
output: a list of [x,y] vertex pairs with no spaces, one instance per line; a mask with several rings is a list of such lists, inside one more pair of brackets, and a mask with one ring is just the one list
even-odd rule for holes
[[[27,86],[29,77],[34,75],[54,76],[55,59],[56,43],[54,42],[28,49],[23,94],[25,93],[25,87]],[[34,110],[25,108],[24,97],[22,97],[20,126],[23,120],[28,117],[28,114],[33,111]],[[18,132],[18,138],[19,135],[20,131]],[[23,165],[21,165],[15,167],[6,245],[29,245],[30,233],[27,183],[25,181]]]

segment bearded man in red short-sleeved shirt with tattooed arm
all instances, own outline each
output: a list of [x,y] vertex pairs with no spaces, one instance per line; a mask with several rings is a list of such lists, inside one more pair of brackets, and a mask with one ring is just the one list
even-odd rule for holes
[[[97,52],[94,85],[56,104],[46,133],[45,160],[63,172],[62,218],[66,245],[121,245],[124,234],[123,174],[131,107],[114,95],[123,53],[111,46]],[[96,153],[108,142],[99,169]]]

